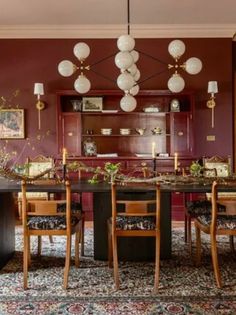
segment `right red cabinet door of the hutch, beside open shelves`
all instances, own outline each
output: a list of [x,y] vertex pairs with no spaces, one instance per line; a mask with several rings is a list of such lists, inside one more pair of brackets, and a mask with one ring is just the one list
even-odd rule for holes
[[187,112],[171,113],[171,155],[193,154],[192,114]]

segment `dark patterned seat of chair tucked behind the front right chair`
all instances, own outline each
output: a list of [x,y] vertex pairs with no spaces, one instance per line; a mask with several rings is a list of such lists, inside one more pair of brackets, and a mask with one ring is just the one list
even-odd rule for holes
[[[217,204],[218,212],[225,212],[226,207]],[[187,213],[191,216],[198,216],[202,214],[211,213],[211,201],[210,200],[194,200],[188,201],[186,204]]]

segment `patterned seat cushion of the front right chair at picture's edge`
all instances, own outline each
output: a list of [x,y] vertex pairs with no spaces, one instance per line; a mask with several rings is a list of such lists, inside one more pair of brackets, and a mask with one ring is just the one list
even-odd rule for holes
[[[197,220],[206,226],[211,224],[211,215],[205,214],[197,218]],[[236,215],[219,215],[216,220],[217,229],[236,230]]]

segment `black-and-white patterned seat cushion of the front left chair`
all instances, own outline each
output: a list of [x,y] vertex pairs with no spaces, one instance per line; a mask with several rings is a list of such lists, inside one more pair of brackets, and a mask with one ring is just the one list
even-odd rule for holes
[[[71,225],[75,226],[79,222],[76,216],[71,217]],[[27,226],[31,230],[65,230],[66,216],[30,216]]]

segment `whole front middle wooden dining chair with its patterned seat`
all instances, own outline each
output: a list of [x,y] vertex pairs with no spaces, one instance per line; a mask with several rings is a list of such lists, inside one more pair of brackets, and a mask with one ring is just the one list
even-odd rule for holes
[[[141,184],[122,183],[138,191]],[[152,186],[155,196],[149,200],[126,200],[119,196],[120,185],[111,184],[112,216],[108,219],[108,265],[114,269],[115,287],[119,289],[118,251],[119,237],[155,237],[155,280],[154,292],[159,285],[160,273],[160,186]],[[146,187],[146,186],[145,186]],[[140,192],[139,198],[142,198]],[[144,196],[144,195],[143,195]]]

